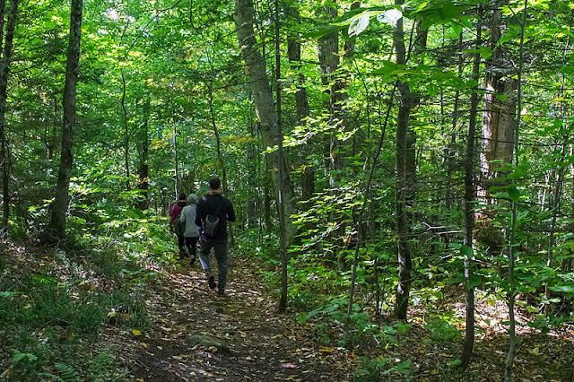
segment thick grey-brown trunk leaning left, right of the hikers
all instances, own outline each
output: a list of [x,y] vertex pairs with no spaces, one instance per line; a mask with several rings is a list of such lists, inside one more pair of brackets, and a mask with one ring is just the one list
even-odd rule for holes
[[[253,0],[235,0],[235,28],[239,39],[239,46],[245,60],[245,72],[248,76],[249,86],[253,92],[253,100],[257,109],[257,120],[264,150],[274,148],[278,145],[277,114],[274,109],[274,95],[271,90],[269,79],[265,69],[265,58],[257,50],[257,39],[253,28],[254,19]],[[275,195],[282,186],[279,179],[278,152],[265,152],[265,163],[269,171],[272,172]],[[283,203],[285,205],[286,235],[287,242],[291,243],[295,236],[295,225],[291,222],[291,214],[296,211],[296,200],[289,176],[288,167],[283,161],[282,166],[285,171],[283,182],[285,195]]]

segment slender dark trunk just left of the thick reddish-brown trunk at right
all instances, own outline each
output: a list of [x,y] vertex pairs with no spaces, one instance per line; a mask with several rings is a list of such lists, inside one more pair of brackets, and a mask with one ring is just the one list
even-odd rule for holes
[[[480,8],[480,17],[482,7]],[[476,26],[476,47],[482,44],[481,31],[483,25],[479,22]],[[473,78],[478,81],[480,75],[481,56],[474,54]],[[471,286],[473,276],[473,230],[474,230],[474,201],[475,178],[474,178],[474,152],[476,139],[476,115],[478,114],[478,86],[472,90],[470,99],[470,116],[468,122],[468,136],[466,137],[466,158],[465,158],[465,239],[463,252],[465,256],[465,303],[466,303],[466,327],[465,345],[462,354],[462,367],[466,369],[473,356],[474,348],[474,287]]]

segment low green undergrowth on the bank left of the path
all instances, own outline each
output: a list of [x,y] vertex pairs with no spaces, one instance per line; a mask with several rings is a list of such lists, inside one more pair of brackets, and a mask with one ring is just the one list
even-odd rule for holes
[[0,253],[0,380],[126,376],[113,352],[88,350],[101,346],[106,326],[149,329],[144,289],[159,275],[146,265],[174,266],[173,242],[158,221],[132,216],[107,224],[73,225],[57,247],[39,246],[32,232],[27,250]]

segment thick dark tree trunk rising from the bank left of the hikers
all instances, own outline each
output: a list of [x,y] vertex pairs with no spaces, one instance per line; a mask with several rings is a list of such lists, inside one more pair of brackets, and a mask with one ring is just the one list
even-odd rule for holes
[[72,0],[70,7],[70,44],[67,50],[65,68],[62,153],[57,177],[56,197],[51,206],[49,224],[50,230],[59,238],[65,237],[65,216],[69,204],[70,177],[74,167],[75,102],[80,63],[83,0]]

